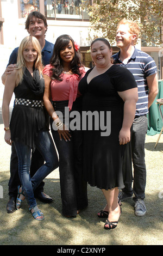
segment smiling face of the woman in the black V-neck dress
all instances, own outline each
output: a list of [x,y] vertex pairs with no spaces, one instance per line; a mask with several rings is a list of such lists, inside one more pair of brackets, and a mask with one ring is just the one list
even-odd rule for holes
[[104,41],[97,40],[92,44],[91,57],[96,66],[105,68],[111,64],[110,58],[112,50],[105,44]]

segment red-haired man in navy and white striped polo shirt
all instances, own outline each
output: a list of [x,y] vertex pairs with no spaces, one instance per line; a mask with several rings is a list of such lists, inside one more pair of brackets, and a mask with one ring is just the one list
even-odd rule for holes
[[158,76],[156,64],[147,53],[137,50],[135,44],[139,37],[139,26],[132,21],[123,19],[117,27],[116,44],[120,51],[112,56],[114,63],[125,66],[135,77],[139,99],[136,103],[136,113],[131,136],[132,159],[134,166],[134,184],[125,184],[120,191],[121,201],[133,197],[135,201],[135,215],[144,216],[146,206],[146,164],[145,138],[148,128],[147,113],[158,94]]

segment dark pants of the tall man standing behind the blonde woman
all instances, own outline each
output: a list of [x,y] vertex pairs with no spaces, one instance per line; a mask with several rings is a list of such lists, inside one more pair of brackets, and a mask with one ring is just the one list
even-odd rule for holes
[[[44,163],[44,159],[40,152],[35,149],[34,153],[32,153],[32,160],[30,166],[30,176],[32,177],[37,169],[39,169]],[[17,186],[21,185],[19,176],[18,176],[18,159],[15,150],[14,143],[11,146],[11,159],[10,159],[10,180],[9,180],[9,196],[17,197]],[[43,186],[45,183],[42,181],[41,184],[36,188],[35,195],[38,192],[43,191]]]

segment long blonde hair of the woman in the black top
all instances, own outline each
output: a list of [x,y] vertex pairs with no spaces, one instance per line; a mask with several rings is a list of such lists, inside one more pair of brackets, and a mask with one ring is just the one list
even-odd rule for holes
[[23,81],[24,70],[26,69],[26,62],[23,57],[24,48],[27,47],[28,44],[32,44],[33,48],[37,51],[37,58],[34,62],[34,68],[39,70],[40,77],[42,77],[42,55],[41,55],[41,47],[39,41],[34,36],[26,36],[22,41],[20,46],[18,47],[18,55],[17,55],[17,83],[21,83]]

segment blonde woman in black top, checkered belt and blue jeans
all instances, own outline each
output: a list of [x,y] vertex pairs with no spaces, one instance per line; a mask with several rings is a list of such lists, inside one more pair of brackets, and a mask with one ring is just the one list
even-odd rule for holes
[[[29,210],[35,220],[43,220],[37,208],[33,191],[40,182],[58,167],[58,156],[42,108],[45,84],[42,76],[41,48],[33,36],[26,36],[18,49],[15,69],[7,76],[3,95],[2,114],[5,142],[14,143],[18,157],[18,174],[22,187],[18,187],[17,209],[26,197]],[[9,105],[13,92],[15,105],[9,124]],[[45,159],[30,179],[31,150],[37,148]]]

